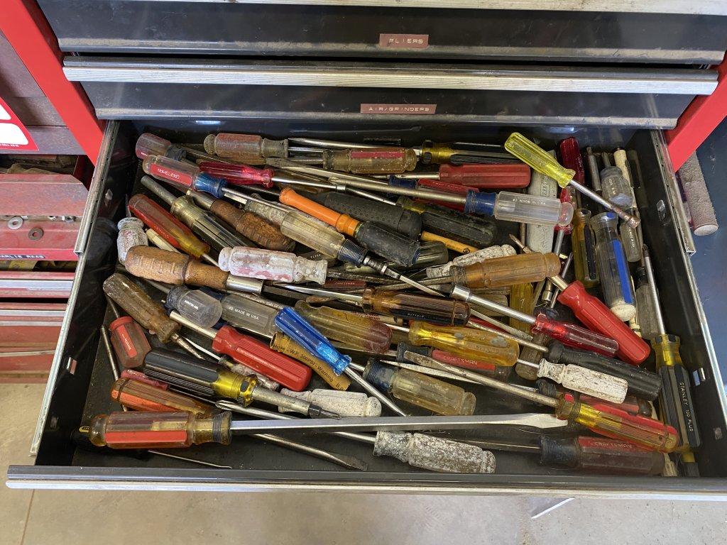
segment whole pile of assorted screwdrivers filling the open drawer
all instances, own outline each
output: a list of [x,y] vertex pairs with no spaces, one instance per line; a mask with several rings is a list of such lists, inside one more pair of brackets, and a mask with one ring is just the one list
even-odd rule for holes
[[[303,429],[440,472],[494,472],[490,451],[503,449],[580,471],[696,475],[638,157],[582,155],[573,138],[548,153],[519,133],[417,148],[220,133],[204,151],[145,133],[136,154],[140,192],[103,285],[124,411],[82,428],[92,445],[234,433],[366,469],[277,433]],[[547,409],[478,410],[491,392]],[[532,427],[537,443],[431,433],[485,425]],[[550,434],[563,425],[569,437]]]

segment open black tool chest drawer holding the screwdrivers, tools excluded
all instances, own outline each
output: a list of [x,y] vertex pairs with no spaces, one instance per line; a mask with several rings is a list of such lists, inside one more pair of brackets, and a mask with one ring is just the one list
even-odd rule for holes
[[[116,265],[116,247],[108,243],[103,259],[89,262],[86,249],[98,249],[110,226],[123,217],[125,199],[139,190],[141,170],[133,153],[138,135],[154,132],[175,142],[199,144],[209,132],[249,132],[267,137],[307,135],[343,141],[360,141],[371,134],[390,137],[402,145],[417,145],[425,138],[448,142],[475,140],[502,142],[511,127],[475,126],[462,122],[429,122],[419,119],[366,119],[348,121],[272,121],[255,119],[137,119],[112,121],[105,133],[102,156],[89,195],[82,252],[67,317],[57,350],[54,376],[44,404],[44,419],[36,435],[35,466],[9,469],[11,487],[28,488],[139,488],[180,490],[344,490],[404,491],[422,493],[537,493],[606,496],[727,496],[726,403],[718,363],[689,263],[691,235],[683,223],[678,187],[666,155],[662,134],[656,130],[577,126],[524,126],[518,130],[553,146],[574,136],[579,145],[595,150],[622,147],[638,153],[640,179],[636,195],[646,243],[662,286],[667,328],[682,341],[681,354],[696,382],[693,397],[702,447],[696,453],[702,477],[622,477],[578,474],[537,464],[537,456],[494,451],[494,474],[435,474],[413,469],[395,459],[371,456],[371,446],[331,435],[302,436],[303,442],[365,460],[363,472],[342,471],[326,461],[262,443],[252,437],[233,437],[229,446],[206,444],[188,454],[233,469],[209,469],[184,461],[150,456],[136,459],[123,454],[93,453],[69,441],[73,430],[89,416],[113,408],[108,389],[113,381],[108,359],[99,341],[99,326],[111,317],[101,284]],[[502,241],[505,243],[505,240]],[[203,343],[205,341],[202,341]],[[207,344],[209,346],[209,344]],[[356,358],[354,358],[356,360]],[[361,361],[361,360],[358,360]],[[315,378],[315,377],[314,377]],[[467,385],[470,389],[470,385]],[[537,405],[472,386],[478,397],[475,413],[540,411]],[[409,406],[407,405],[407,408]],[[572,434],[572,431],[558,432]],[[451,437],[502,437],[527,440],[532,430],[502,431],[497,427],[477,432],[449,432]],[[293,435],[291,435],[293,437]]]

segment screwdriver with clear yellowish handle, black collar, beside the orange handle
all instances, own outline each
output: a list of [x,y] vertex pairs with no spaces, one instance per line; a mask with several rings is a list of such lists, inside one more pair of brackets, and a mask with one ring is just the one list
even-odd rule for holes
[[380,275],[406,282],[409,286],[414,286],[414,288],[427,294],[440,295],[437,291],[396,272],[382,260],[366,254],[366,250],[361,246],[348,240],[336,230],[326,225],[320,225],[315,218],[308,217],[300,212],[290,212],[282,220],[280,229],[284,235],[308,246],[310,249],[321,252],[321,254],[335,257],[345,263],[352,263],[357,267],[362,265],[371,267]]

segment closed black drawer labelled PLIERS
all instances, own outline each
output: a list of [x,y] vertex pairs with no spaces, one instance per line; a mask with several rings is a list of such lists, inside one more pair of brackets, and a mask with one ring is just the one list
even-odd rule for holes
[[712,64],[727,49],[719,2],[39,4],[68,52]]

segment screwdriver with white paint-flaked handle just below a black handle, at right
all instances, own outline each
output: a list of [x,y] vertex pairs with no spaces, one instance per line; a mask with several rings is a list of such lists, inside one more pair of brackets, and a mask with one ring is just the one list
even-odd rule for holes
[[[407,359],[414,363],[436,368],[436,364],[433,363],[436,360],[432,358],[414,352],[408,352],[405,355]],[[551,363],[545,358],[542,358],[539,363],[531,363],[525,360],[518,360],[518,363],[537,369],[537,376],[563,384],[563,387],[575,392],[582,392],[585,395],[611,401],[611,403],[622,403],[626,397],[628,383],[624,379],[615,376],[591,371],[585,367]]]

